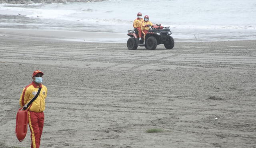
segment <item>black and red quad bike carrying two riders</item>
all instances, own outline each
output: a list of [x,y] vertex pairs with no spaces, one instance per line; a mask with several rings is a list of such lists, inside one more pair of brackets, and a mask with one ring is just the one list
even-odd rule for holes
[[135,50],[138,46],[145,46],[146,49],[154,50],[159,44],[164,44],[166,49],[172,49],[174,47],[174,39],[170,36],[172,32],[170,27],[163,27],[158,24],[150,26],[145,39],[144,34],[142,34],[142,40],[139,41],[138,30],[128,30],[128,36],[130,38],[127,41],[127,47],[129,50]]

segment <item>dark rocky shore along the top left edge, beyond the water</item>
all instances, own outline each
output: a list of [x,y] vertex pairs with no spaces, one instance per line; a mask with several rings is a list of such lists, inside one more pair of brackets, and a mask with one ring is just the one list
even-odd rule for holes
[[34,4],[34,3],[66,3],[66,2],[101,2],[104,0],[0,0],[0,4]]

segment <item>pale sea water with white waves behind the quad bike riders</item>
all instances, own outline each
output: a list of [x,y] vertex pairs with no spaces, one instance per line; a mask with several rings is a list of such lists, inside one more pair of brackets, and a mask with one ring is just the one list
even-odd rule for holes
[[[0,4],[0,28],[116,32],[126,37],[138,12],[154,24],[170,26],[176,41],[256,39],[256,0]],[[125,37],[119,41],[126,42]]]

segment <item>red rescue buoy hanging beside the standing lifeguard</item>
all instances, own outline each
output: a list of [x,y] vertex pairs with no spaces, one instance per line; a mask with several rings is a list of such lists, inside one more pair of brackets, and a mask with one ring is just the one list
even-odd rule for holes
[[28,130],[28,111],[20,108],[16,115],[16,136],[20,142],[26,137]]

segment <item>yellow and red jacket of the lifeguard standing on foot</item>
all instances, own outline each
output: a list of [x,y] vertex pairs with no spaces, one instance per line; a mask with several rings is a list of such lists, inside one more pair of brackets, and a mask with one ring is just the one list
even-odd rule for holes
[[[36,100],[28,107],[28,111],[33,112],[42,112],[45,109],[45,98],[47,96],[47,88],[40,84],[39,87],[42,87],[40,94]],[[32,82],[30,85],[26,86],[22,94],[20,95],[20,106],[23,107],[26,105],[37,93],[39,87],[36,83]]]

